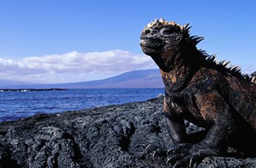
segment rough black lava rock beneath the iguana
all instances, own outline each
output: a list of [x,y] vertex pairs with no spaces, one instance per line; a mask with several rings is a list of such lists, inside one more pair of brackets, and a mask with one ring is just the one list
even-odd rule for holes
[[[145,154],[151,143],[170,145],[162,104],[160,97],[2,122],[0,167],[168,167]],[[187,130],[202,129],[187,123]],[[256,167],[256,158],[209,157],[198,167]]]

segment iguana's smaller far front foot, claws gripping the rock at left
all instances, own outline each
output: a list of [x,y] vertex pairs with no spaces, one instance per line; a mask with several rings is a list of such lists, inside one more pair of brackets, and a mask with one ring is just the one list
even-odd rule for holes
[[147,158],[152,157],[153,160],[156,158],[160,159],[162,156],[166,156],[166,151],[164,151],[161,146],[156,146],[153,144],[150,144],[145,148],[145,153],[147,154]]

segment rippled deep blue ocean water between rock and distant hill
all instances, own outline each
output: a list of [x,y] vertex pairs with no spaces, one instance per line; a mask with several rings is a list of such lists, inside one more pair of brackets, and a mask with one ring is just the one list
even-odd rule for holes
[[164,89],[70,89],[0,92],[0,122],[37,113],[62,113],[96,106],[138,102],[164,94]]

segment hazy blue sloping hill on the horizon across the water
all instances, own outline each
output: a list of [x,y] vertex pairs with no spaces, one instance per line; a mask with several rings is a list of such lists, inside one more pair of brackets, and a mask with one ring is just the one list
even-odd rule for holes
[[157,69],[137,70],[117,76],[87,82],[64,84],[20,84],[0,86],[1,89],[111,89],[111,88],[163,88],[160,71]]

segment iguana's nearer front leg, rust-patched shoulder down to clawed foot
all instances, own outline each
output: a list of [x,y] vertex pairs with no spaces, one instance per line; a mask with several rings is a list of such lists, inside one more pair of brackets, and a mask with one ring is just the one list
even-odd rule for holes
[[174,167],[192,166],[194,162],[207,156],[221,156],[228,148],[228,138],[236,129],[233,111],[228,103],[217,92],[195,95],[195,106],[210,129],[206,137],[189,150],[174,149],[169,162],[175,163]]

